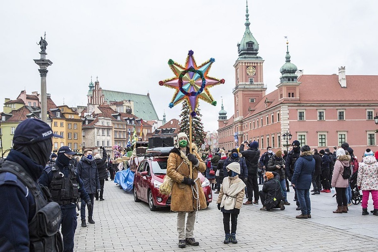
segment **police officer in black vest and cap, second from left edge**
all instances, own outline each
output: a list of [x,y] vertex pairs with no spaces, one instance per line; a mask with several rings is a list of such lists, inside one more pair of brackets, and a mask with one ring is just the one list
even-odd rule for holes
[[78,218],[76,216],[76,200],[79,193],[81,193],[81,198],[87,202],[88,209],[92,209],[91,200],[84,189],[83,181],[72,165],[71,159],[74,154],[76,153],[70,147],[60,147],[55,164],[47,166],[39,178],[39,183],[49,188],[52,200],[60,206],[64,251],[74,251],[74,235]]

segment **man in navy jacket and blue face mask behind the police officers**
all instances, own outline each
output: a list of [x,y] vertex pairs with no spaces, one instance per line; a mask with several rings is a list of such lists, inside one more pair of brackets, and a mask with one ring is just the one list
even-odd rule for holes
[[[85,191],[87,191],[89,198],[91,198],[92,206],[94,204],[94,197],[100,193],[100,179],[98,176],[97,164],[92,156],[93,151],[91,149],[85,149],[84,155],[77,164],[77,169],[80,178],[83,180]],[[86,201],[82,199],[80,207],[81,226],[87,227],[85,222],[85,206]],[[88,222],[95,224],[93,218],[93,208],[88,209]]]

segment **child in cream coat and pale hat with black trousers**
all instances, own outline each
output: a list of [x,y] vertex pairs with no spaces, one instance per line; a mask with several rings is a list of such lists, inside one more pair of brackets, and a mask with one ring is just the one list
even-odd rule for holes
[[[226,166],[228,177],[222,182],[217,204],[218,209],[223,213],[223,226],[226,237],[223,243],[237,243],[236,226],[237,216],[240,213],[244,198],[244,182],[239,178],[240,164],[232,162]],[[231,233],[230,233],[231,217]]]

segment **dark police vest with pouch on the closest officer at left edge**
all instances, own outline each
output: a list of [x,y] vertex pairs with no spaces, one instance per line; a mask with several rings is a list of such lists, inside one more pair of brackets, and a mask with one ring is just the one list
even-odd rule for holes
[[[33,181],[25,169],[18,163],[0,161],[0,172],[10,172],[28,188],[35,202],[35,215],[28,223],[30,251],[62,251],[63,241],[59,231],[61,210],[57,203],[50,201],[46,187]],[[22,191],[21,185],[17,184]]]

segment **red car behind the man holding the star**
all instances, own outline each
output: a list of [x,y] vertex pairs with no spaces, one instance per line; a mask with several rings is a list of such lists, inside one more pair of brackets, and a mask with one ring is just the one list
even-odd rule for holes
[[[161,147],[147,150],[145,159],[139,163],[134,175],[134,201],[147,202],[151,211],[170,206],[170,196],[161,195],[159,187],[167,173],[168,153],[171,149],[172,147]],[[200,172],[198,176],[209,206],[213,200],[210,182]]]

